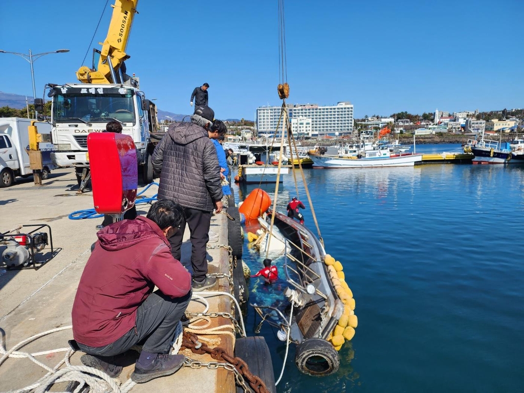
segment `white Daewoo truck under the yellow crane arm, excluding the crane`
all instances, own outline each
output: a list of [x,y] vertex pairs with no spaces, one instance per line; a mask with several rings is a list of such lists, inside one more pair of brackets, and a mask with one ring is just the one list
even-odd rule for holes
[[[89,168],[88,135],[105,131],[106,124],[122,124],[122,134],[133,138],[143,181],[153,180],[151,154],[163,133],[156,133],[155,105],[128,84],[48,84],[54,165],[75,167],[79,184]],[[42,101],[35,100],[37,109]]]

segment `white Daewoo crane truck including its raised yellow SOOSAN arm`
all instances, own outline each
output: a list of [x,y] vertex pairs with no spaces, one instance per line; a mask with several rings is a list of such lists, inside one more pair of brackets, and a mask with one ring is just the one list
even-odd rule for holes
[[[104,132],[110,121],[121,123],[122,134],[133,138],[144,183],[153,180],[151,154],[162,138],[157,110],[139,89],[139,79],[126,74],[124,63],[130,57],[125,49],[137,4],[138,0],[116,0],[102,50],[93,49],[92,68],[77,71],[81,83],[46,85],[52,100],[51,158],[54,165],[75,167],[81,189],[89,172],[88,135]],[[43,104],[35,100],[37,111]]]

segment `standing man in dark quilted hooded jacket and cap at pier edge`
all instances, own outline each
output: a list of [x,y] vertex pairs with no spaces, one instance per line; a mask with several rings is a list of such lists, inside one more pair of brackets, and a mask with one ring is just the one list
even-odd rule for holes
[[216,213],[222,211],[223,196],[219,160],[210,139],[213,118],[210,107],[197,107],[191,123],[169,126],[151,156],[153,170],[160,174],[158,198],[177,202],[184,211],[180,231],[169,238],[177,260],[181,256],[185,223],[189,226],[193,291],[211,288],[216,283],[216,277],[206,276],[211,215],[213,209]]

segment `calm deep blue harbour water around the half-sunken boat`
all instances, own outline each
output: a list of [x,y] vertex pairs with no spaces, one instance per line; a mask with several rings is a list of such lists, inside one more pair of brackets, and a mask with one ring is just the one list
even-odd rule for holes
[[[524,167],[304,172],[326,252],[342,262],[353,290],[358,328],[329,377],[301,374],[290,345],[278,392],[524,391]],[[253,188],[235,192],[245,198]],[[280,195],[285,212],[296,195],[291,175]],[[314,228],[302,185],[299,198]],[[247,247],[244,260],[261,267]],[[250,287],[250,302],[271,303],[286,285],[251,279]],[[251,308],[246,321],[254,334],[260,318]],[[278,378],[285,346],[267,324],[260,334]]]

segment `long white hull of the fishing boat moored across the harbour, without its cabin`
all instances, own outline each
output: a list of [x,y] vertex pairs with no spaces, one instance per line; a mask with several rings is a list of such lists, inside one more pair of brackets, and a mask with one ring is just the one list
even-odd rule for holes
[[422,161],[421,154],[410,154],[398,157],[379,158],[349,158],[310,154],[313,168],[384,168],[384,167],[412,167]]

